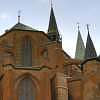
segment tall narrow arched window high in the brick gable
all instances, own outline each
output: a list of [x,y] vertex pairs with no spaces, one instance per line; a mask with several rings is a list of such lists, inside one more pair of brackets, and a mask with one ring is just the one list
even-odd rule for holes
[[32,66],[32,42],[28,36],[23,39],[22,43],[22,65],[24,67]]

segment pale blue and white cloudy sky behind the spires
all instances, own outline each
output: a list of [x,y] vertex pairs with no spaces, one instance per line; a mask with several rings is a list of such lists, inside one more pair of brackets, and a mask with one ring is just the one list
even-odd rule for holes
[[[53,0],[54,13],[64,50],[75,55],[77,22],[86,44],[86,24],[90,24],[90,35],[97,54],[100,53],[100,0]],[[21,22],[46,32],[50,16],[50,0],[0,0],[0,33],[17,23],[18,10]]]

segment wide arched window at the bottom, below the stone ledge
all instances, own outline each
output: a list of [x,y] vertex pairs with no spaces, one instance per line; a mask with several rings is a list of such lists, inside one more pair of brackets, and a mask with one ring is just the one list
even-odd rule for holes
[[18,85],[18,100],[36,100],[36,88],[30,78],[24,78]]

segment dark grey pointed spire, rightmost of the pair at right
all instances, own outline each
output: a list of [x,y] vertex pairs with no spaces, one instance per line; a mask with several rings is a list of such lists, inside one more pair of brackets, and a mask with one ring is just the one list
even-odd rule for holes
[[94,44],[90,37],[88,25],[87,25],[87,30],[88,30],[88,36],[87,36],[86,49],[85,49],[85,59],[89,59],[97,56]]

